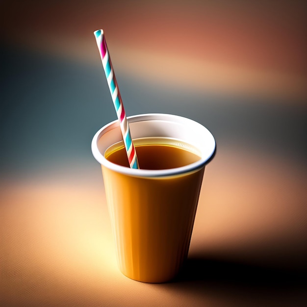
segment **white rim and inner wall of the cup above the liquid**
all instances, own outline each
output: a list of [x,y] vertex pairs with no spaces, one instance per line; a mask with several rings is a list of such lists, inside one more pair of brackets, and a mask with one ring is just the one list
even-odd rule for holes
[[[123,140],[119,121],[113,121],[102,127],[94,136],[92,141],[92,153],[96,160],[117,172],[132,176],[170,176],[197,170],[208,163],[215,153],[215,140],[211,132],[203,125],[181,117],[170,114],[142,114],[128,117],[128,123],[132,139],[145,137],[172,138],[191,145],[197,149],[200,160],[169,170],[141,170],[130,169],[111,163],[104,157],[105,151],[113,144]],[[185,146],[186,147],[186,146]],[[186,148],[189,150],[189,148]]]

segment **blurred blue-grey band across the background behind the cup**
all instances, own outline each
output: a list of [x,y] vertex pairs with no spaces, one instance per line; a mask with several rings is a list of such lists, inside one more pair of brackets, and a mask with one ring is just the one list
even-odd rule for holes
[[[91,163],[95,132],[116,119],[102,65],[2,47],[1,176]],[[99,60],[99,59],[98,59]],[[196,120],[221,144],[243,144],[306,165],[307,106],[264,97],[199,93],[116,74],[127,115]]]

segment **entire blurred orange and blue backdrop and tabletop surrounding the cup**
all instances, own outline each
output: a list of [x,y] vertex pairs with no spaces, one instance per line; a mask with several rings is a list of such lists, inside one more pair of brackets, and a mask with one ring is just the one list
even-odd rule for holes
[[[0,303],[306,303],[304,1],[4,0],[0,12]],[[128,116],[181,115],[216,139],[172,283],[116,267],[90,149],[116,119],[100,28]]]

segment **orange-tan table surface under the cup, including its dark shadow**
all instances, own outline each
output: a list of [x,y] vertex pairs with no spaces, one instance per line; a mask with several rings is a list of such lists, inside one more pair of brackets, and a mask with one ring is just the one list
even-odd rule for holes
[[77,179],[3,180],[1,302],[300,306],[306,176],[251,156],[220,149],[206,167],[188,259],[176,280],[161,284],[119,271],[98,164]]

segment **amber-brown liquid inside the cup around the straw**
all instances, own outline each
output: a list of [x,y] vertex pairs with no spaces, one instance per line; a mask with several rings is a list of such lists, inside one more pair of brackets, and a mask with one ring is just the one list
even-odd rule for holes
[[[182,141],[168,138],[142,138],[133,141],[140,169],[163,170],[182,167],[200,159],[198,150]],[[123,142],[114,144],[104,154],[112,163],[129,167]]]

